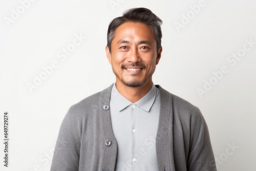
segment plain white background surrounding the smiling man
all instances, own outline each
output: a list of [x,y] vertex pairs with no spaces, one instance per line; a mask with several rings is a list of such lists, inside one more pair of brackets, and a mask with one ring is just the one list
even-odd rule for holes
[[[27,8],[21,2],[26,1],[0,1],[2,138],[5,111],[10,122],[9,167],[3,166],[1,143],[1,170],[50,169],[69,107],[115,81],[104,52],[106,31],[114,17],[133,7],[149,8],[163,20],[163,52],[153,81],[200,108],[218,170],[256,170],[256,44],[236,63],[227,61],[234,60],[229,58],[233,53],[245,52],[246,40],[256,42],[254,1],[205,0],[197,14],[190,6],[199,1],[38,0]],[[176,22],[183,27],[177,29]],[[65,60],[59,58],[75,35],[87,38]],[[58,67],[30,92],[27,84],[34,84],[34,76],[52,61]],[[223,66],[228,72],[212,78]],[[200,97],[198,88],[204,89],[205,80],[214,85]]]

